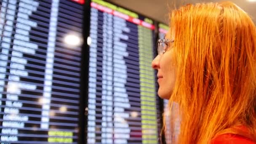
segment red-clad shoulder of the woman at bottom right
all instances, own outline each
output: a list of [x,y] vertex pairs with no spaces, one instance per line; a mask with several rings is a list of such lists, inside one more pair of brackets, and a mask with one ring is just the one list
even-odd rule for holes
[[239,135],[223,134],[213,139],[210,144],[256,144],[256,142]]

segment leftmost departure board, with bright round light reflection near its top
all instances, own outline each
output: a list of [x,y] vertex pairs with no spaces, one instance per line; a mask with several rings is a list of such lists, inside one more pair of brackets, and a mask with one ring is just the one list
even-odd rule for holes
[[77,144],[83,0],[0,0],[0,143]]

